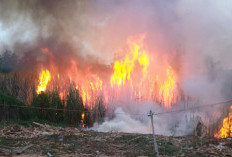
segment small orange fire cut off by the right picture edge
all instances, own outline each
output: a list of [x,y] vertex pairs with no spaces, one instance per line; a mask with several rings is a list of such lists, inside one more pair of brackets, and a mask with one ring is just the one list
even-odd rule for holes
[[230,106],[230,112],[228,117],[223,119],[222,127],[218,133],[214,134],[216,138],[227,138],[232,135],[232,106]]

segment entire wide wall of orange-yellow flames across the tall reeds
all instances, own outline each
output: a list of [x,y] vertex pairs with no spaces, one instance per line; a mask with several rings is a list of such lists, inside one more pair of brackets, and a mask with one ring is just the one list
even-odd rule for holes
[[[99,99],[107,103],[117,101],[121,96],[128,96],[137,102],[155,101],[170,108],[180,98],[178,73],[169,64],[171,56],[151,52],[144,44],[144,39],[145,35],[129,38],[122,51],[123,55],[114,61],[112,67],[103,67],[103,70],[70,59],[65,65],[67,68],[62,67],[63,70],[60,71],[53,60],[53,52],[47,48],[42,49],[50,58],[51,71],[41,72],[37,93],[46,91],[52,75],[49,90],[56,89],[61,99],[65,99],[70,85],[74,86],[79,91],[84,106],[89,109]],[[109,70],[112,73],[107,72]]]

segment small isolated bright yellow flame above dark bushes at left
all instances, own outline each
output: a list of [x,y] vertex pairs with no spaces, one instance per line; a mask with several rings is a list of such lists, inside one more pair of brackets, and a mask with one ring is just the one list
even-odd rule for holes
[[48,70],[43,70],[40,73],[39,85],[37,87],[37,94],[45,92],[48,82],[51,80],[51,74]]

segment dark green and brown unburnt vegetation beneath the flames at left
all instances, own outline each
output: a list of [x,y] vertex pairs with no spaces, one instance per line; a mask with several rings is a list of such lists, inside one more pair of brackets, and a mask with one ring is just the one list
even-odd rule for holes
[[[0,73],[0,121],[38,119],[91,126],[104,120],[105,108],[101,98],[92,105],[94,108],[84,108],[75,86],[70,84],[66,98],[61,100],[57,90],[37,94],[34,80],[32,74]],[[85,113],[84,119],[81,119],[82,113]]]

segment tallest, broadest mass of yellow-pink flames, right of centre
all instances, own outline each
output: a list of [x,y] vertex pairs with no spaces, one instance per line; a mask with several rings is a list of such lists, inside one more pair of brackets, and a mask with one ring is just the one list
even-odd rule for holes
[[143,38],[128,40],[129,53],[124,59],[114,62],[111,87],[121,88],[129,84],[132,98],[155,100],[170,108],[180,97],[177,73],[166,60],[156,59],[154,62],[158,57],[145,49]]

